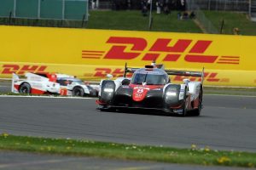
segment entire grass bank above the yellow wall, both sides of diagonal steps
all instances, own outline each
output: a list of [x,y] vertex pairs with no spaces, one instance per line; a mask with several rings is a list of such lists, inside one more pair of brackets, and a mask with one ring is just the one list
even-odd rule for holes
[[[256,36],[256,22],[248,20],[247,14],[224,11],[204,11],[213,26],[220,30],[224,20],[224,34],[233,34],[233,28],[238,27],[241,35]],[[143,17],[140,10],[90,10],[89,21],[61,20],[26,20],[0,18],[0,24],[21,26],[57,26],[77,27],[107,30],[148,31],[148,16]],[[83,26],[82,26],[83,25]],[[202,33],[194,20],[177,20],[177,11],[171,14],[155,14],[151,31],[195,32]]]

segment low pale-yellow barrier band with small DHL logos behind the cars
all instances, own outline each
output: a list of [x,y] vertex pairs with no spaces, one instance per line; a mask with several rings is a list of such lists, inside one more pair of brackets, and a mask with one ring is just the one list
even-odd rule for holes
[[[35,64],[27,63],[24,64],[15,64],[19,65],[20,68],[24,68],[26,65],[33,65],[34,68],[37,68],[35,71],[38,73],[45,72],[55,72],[55,73],[68,73],[76,77],[82,77],[84,80],[90,82],[98,82],[103,78],[106,78],[107,74],[112,74],[113,78],[122,77],[124,74],[124,66],[115,66],[115,65],[55,65],[55,64]],[[37,67],[36,67],[36,66]],[[2,71],[6,73],[14,71],[14,63],[11,63],[6,66],[6,64],[0,63],[0,68],[5,68]],[[12,67],[10,67],[12,66]],[[32,66],[30,66],[32,67]],[[8,68],[8,69],[6,69]],[[40,71],[40,68],[44,70]],[[188,70],[187,68],[172,68],[173,70]],[[201,71],[201,69],[195,70],[190,69],[190,71]],[[23,75],[26,71],[18,70],[16,71],[20,75]],[[208,70],[205,69],[205,85],[211,86],[232,86],[232,87],[256,87],[256,71],[236,71],[236,70]],[[9,77],[9,74],[6,74]],[[131,75],[127,75],[128,77]],[[184,76],[171,76],[172,82],[183,82],[183,78],[189,78],[191,81],[201,81],[201,77],[184,77]]]

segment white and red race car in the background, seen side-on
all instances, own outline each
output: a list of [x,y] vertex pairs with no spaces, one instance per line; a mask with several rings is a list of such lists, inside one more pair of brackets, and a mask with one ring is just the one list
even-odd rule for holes
[[13,74],[12,92],[15,94],[61,94],[68,96],[97,96],[97,89],[66,74],[37,74],[27,72],[26,79]]

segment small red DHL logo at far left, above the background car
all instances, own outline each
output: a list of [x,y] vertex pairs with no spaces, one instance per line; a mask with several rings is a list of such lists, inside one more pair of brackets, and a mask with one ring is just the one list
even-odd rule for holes
[[33,72],[33,73],[46,73],[45,69],[47,68],[46,65],[3,65],[3,71],[1,74],[19,74],[23,75],[26,72]]

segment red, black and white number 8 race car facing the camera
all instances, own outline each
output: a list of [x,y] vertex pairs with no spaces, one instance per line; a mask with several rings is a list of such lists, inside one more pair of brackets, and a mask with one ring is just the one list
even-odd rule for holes
[[[133,73],[131,78],[126,73]],[[201,77],[201,82],[184,79],[183,84],[171,82],[170,75]],[[187,111],[201,114],[203,71],[164,70],[163,65],[146,65],[145,68],[127,68],[124,77],[103,80],[96,103],[101,111],[121,109],[160,110],[186,116]]]

